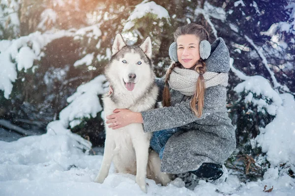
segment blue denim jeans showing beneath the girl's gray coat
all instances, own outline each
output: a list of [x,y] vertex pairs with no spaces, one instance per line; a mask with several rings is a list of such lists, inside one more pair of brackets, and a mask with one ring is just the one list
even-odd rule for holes
[[160,159],[163,157],[165,144],[169,138],[178,131],[180,131],[179,128],[172,128],[153,132],[152,138],[150,140],[150,146],[159,154]]

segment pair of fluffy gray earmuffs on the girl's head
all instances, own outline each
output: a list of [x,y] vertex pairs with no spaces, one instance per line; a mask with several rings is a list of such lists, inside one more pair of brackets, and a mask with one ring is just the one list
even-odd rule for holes
[[[211,45],[207,40],[203,40],[200,43],[200,57],[202,59],[207,59],[210,56],[211,53]],[[173,61],[178,61],[177,58],[177,44],[176,42],[173,42],[169,47],[169,56],[170,59]]]

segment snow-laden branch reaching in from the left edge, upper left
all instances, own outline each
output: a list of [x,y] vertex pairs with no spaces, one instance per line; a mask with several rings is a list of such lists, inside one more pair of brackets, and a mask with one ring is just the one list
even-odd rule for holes
[[31,68],[34,60],[40,60],[44,55],[41,49],[48,43],[65,36],[74,37],[74,39],[83,39],[83,36],[98,39],[102,34],[98,26],[97,24],[78,30],[47,31],[43,34],[36,31],[11,41],[0,41],[0,45],[4,44],[0,47],[0,90],[4,91],[4,97],[9,98],[12,83],[17,79],[17,70],[24,69],[26,72]]

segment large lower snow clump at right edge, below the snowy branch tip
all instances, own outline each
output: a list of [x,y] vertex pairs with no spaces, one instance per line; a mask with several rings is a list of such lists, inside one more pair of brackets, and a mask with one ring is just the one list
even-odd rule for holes
[[278,107],[275,118],[260,128],[260,134],[255,139],[262,151],[266,152],[266,159],[271,167],[280,164],[295,163],[295,100],[289,93],[280,94],[283,104]]

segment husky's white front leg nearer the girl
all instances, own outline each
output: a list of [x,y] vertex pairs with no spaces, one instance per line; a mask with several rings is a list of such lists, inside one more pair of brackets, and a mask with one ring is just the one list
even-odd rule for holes
[[136,154],[136,183],[139,185],[139,187],[144,193],[147,193],[146,176],[148,165],[149,140],[142,136],[134,138],[132,142]]

